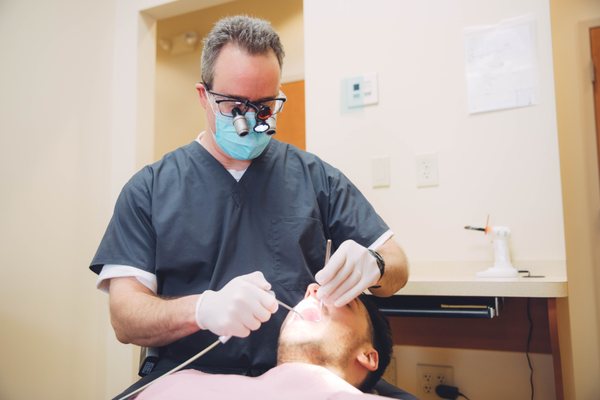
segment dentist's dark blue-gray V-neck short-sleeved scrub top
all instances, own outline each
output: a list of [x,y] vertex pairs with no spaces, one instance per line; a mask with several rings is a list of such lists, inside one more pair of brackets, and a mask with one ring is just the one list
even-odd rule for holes
[[[148,271],[165,297],[219,290],[260,270],[277,298],[294,305],[323,267],[326,239],[333,249],[347,239],[366,247],[387,230],[348,178],[313,154],[272,139],[237,182],[194,141],[125,185],[90,268],[99,273],[104,264],[121,264]],[[263,373],[276,364],[286,314],[280,307],[249,337],[232,338],[191,366]],[[199,331],[164,346],[157,369],[215,340]]]

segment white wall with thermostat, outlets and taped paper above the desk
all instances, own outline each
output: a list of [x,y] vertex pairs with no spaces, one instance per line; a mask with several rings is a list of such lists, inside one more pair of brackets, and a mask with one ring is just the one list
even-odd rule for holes
[[[537,21],[539,104],[469,115],[463,29],[521,15]],[[487,238],[463,229],[488,214],[511,228],[517,266],[564,264],[546,1],[305,0],[304,21],[307,148],[363,190],[412,273],[426,261],[460,269],[460,261],[491,260]],[[342,110],[341,80],[370,72],[379,76],[379,104]],[[416,188],[423,153],[438,154],[438,187]],[[371,188],[378,156],[391,159],[389,188]]]

